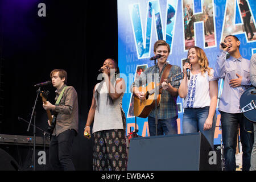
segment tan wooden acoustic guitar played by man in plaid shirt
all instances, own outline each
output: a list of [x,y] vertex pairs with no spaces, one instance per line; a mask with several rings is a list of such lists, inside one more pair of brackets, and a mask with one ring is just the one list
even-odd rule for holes
[[[184,77],[184,73],[179,73],[174,77],[169,78],[166,82],[167,84],[172,81],[181,80]],[[155,102],[157,105],[160,104],[162,84],[156,86],[156,90],[159,91],[157,98],[155,99],[155,84],[150,82],[146,87],[140,86],[139,92],[144,92],[146,100],[140,100],[137,96],[134,97],[134,115],[136,117],[146,118],[150,114],[151,110],[155,107]]]

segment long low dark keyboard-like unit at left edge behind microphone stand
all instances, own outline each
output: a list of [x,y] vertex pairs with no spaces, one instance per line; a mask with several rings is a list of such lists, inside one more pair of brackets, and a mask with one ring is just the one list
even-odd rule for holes
[[[43,147],[44,144],[46,147],[49,147],[50,139],[46,137],[36,137],[35,144],[36,146]],[[34,144],[34,136],[22,136],[22,135],[6,135],[0,134],[0,144],[18,144],[18,145],[32,145]]]

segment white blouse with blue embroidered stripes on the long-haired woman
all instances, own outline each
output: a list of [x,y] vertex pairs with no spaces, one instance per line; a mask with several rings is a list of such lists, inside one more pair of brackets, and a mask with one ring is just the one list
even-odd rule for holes
[[183,108],[200,108],[210,106],[210,87],[209,81],[218,80],[213,77],[214,70],[210,69],[210,76],[208,72],[203,75],[191,73],[190,80],[188,80],[188,93],[184,98]]

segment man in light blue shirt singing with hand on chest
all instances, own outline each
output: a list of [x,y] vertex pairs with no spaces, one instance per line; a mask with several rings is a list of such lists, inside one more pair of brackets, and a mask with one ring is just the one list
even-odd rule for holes
[[[238,127],[242,143],[242,169],[250,169],[250,156],[253,147],[253,124],[240,111],[240,97],[251,85],[250,61],[240,54],[240,41],[234,35],[226,36],[225,48],[220,46],[220,53],[214,69],[214,77],[223,78],[224,86],[218,110],[221,113],[222,138],[226,170],[236,170],[236,146]],[[226,53],[230,57],[226,59]]]

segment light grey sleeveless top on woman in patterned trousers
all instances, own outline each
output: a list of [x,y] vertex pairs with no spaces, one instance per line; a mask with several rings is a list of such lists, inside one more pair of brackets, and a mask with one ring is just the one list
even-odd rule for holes
[[[99,84],[100,83],[96,85],[95,90],[98,88]],[[110,105],[109,103],[108,105],[106,104],[107,96],[108,88],[106,86],[106,82],[104,82],[100,91],[100,106],[98,110],[97,107],[95,110],[92,129],[93,133],[102,130],[123,129],[123,121],[121,115],[123,94],[117,100],[113,101],[113,105]]]

